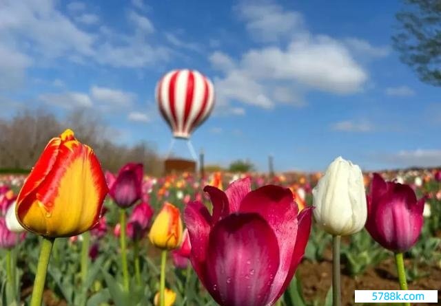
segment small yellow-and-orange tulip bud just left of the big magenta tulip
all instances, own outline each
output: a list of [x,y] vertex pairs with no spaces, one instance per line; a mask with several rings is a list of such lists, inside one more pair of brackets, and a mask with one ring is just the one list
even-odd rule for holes
[[183,234],[179,209],[165,202],[150,229],[149,239],[157,248],[173,250],[178,248]]

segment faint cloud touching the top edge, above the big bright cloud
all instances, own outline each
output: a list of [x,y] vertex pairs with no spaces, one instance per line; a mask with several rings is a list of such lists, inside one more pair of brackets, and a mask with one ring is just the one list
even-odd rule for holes
[[246,28],[258,41],[274,42],[291,36],[303,27],[302,14],[285,11],[273,3],[240,3],[235,8]]

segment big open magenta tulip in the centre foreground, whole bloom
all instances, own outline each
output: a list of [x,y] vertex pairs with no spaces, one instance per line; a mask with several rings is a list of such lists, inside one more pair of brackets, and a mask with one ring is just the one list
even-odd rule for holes
[[213,214],[198,201],[184,213],[201,283],[220,305],[273,305],[305,253],[311,208],[299,214],[291,190],[267,185],[252,191],[249,178],[225,193],[213,186],[204,191]]

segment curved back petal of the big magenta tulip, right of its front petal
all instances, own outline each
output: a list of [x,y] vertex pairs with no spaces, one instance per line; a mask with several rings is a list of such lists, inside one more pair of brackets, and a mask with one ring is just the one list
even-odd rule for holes
[[258,213],[276,233],[280,267],[274,278],[271,294],[269,294],[269,296],[276,296],[291,266],[298,227],[298,206],[294,202],[291,190],[267,185],[248,193],[240,204],[239,211]]

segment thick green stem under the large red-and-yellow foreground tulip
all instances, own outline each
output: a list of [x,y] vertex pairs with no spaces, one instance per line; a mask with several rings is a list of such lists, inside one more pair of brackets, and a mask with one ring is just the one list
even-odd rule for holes
[[43,290],[46,281],[46,273],[48,272],[50,252],[52,252],[54,240],[54,238],[43,237],[43,241],[41,241],[39,264],[37,265],[37,274],[35,274],[30,306],[41,306],[41,299],[43,298]]

